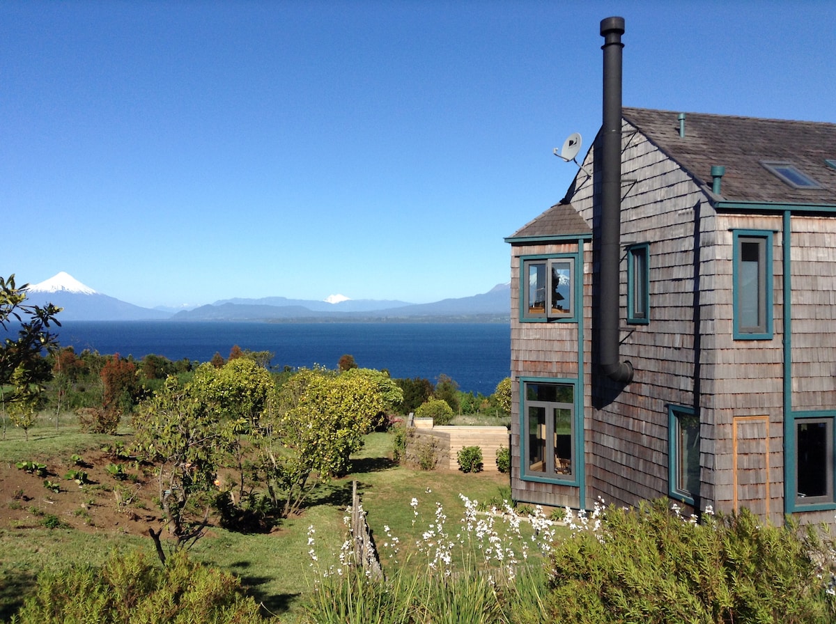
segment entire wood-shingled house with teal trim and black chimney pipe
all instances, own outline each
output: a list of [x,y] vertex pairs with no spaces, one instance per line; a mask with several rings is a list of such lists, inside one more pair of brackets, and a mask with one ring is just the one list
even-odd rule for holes
[[594,145],[506,239],[512,495],[833,522],[836,124],[622,108],[619,20]]

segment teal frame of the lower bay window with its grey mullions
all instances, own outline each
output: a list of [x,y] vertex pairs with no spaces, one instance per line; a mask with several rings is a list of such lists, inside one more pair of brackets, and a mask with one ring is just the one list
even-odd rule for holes
[[[542,483],[552,483],[560,485],[571,485],[579,487],[584,479],[584,462],[581,449],[584,448],[583,434],[584,410],[579,408],[579,401],[582,397],[579,396],[579,382],[577,379],[561,379],[561,378],[520,378],[520,478],[526,481],[538,481]],[[540,401],[530,397],[530,386],[560,386],[571,389],[571,401]],[[532,426],[531,415],[529,408],[545,408],[547,411],[545,422],[543,425],[535,423]],[[561,410],[571,410],[569,414],[570,436],[569,451],[570,465],[568,471],[564,466],[558,465],[558,454],[565,454],[566,449],[559,449],[564,446],[560,444],[554,431],[554,424],[552,419],[548,418],[548,408],[558,408]],[[533,441],[530,434],[533,429],[544,426],[545,434],[538,435],[539,439],[545,440],[545,450],[543,451],[543,463],[545,467],[543,470],[533,470]],[[549,440],[553,440],[552,444],[548,444]],[[560,451],[563,451],[561,453]]]

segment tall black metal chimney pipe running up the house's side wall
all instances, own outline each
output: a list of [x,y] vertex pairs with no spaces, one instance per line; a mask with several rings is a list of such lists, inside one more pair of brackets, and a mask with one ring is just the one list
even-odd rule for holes
[[601,20],[604,37],[604,124],[601,128],[600,357],[604,374],[630,383],[633,366],[619,362],[621,256],[621,35],[624,18]]

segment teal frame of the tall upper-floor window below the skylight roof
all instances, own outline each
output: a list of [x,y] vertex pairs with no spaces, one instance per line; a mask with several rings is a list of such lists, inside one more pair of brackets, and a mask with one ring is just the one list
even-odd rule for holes
[[[735,230],[732,243],[733,336],[735,340],[771,340],[773,337],[772,303],[772,231]],[[752,271],[752,245],[757,246],[757,292],[749,287]],[[752,301],[757,305],[757,322],[747,322]]]

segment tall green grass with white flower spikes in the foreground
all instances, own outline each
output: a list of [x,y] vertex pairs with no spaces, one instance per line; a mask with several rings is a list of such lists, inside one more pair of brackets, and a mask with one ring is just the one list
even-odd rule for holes
[[[464,513],[450,526],[441,503],[424,520],[419,500],[410,500],[418,540],[400,540],[384,527],[380,544],[385,579],[376,580],[353,556],[354,535],[339,551],[339,562],[324,566],[316,529],[308,529],[310,566],[317,571],[305,614],[317,624],[460,624],[538,621],[543,610],[544,555],[556,527],[537,508],[523,518],[510,505],[480,513],[461,496]],[[523,525],[525,527],[523,528]]]

